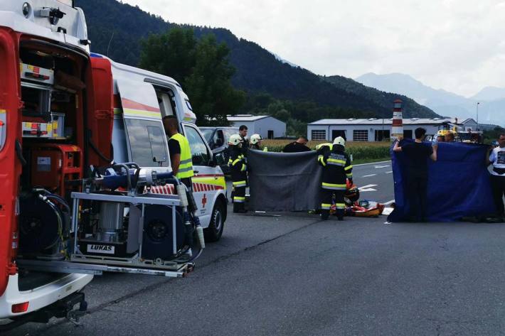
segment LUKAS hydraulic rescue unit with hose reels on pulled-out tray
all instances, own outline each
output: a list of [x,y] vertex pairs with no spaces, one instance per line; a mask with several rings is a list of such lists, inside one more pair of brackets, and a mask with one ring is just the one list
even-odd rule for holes
[[[192,193],[171,172],[121,163],[92,167],[92,178],[70,183],[82,190],[70,194],[71,206],[42,188],[21,198],[20,254],[28,258],[19,259],[20,266],[174,277],[193,269],[205,248],[203,229]],[[149,192],[166,183],[177,195]]]

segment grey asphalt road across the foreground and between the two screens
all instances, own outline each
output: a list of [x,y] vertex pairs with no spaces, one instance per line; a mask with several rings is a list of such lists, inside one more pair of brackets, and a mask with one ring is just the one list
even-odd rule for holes
[[[362,195],[393,200],[389,171],[356,167],[358,186],[376,190]],[[82,326],[11,335],[505,333],[505,227],[384,222],[230,215],[188,278],[97,276]]]

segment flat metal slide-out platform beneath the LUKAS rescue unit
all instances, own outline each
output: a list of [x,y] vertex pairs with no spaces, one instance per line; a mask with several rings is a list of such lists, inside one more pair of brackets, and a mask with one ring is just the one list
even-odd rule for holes
[[42,260],[18,260],[18,266],[32,271],[45,271],[55,273],[83,273],[101,275],[103,272],[144,274],[151,276],[166,276],[169,278],[181,278],[193,271],[194,264],[186,263],[174,267],[174,269],[144,269],[140,267],[124,267],[112,265],[84,264],[70,261],[42,261]]

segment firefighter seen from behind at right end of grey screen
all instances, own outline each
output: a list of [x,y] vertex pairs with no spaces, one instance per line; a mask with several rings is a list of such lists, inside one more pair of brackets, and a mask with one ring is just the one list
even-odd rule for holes
[[321,220],[327,220],[331,207],[331,200],[335,195],[336,215],[344,220],[344,193],[347,190],[346,180],[352,185],[353,174],[351,158],[345,152],[346,141],[338,136],[333,141],[329,151],[319,153],[317,162],[323,166],[323,180],[321,185]]

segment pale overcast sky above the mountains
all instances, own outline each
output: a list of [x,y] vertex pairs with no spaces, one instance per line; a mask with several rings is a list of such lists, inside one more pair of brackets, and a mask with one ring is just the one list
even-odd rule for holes
[[402,72],[471,96],[505,87],[505,0],[122,0],[228,28],[320,75]]

